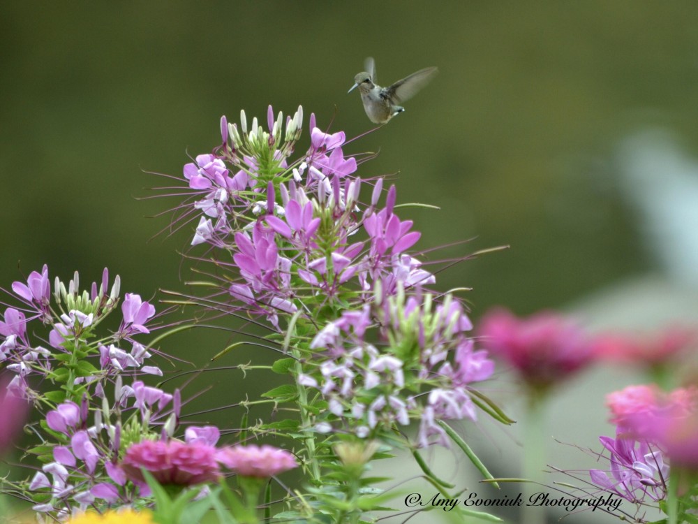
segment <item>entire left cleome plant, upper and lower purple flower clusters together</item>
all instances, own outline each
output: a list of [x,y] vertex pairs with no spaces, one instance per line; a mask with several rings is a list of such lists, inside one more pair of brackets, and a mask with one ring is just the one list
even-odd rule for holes
[[[21,305],[7,307],[0,321],[3,407],[21,421],[20,408],[33,401],[43,435],[30,450],[41,463],[31,481],[7,483],[33,501],[35,511],[52,517],[97,503],[133,502],[140,492],[126,486],[123,446],[177,425],[179,393],[140,379],[163,374],[149,362],[153,350],[137,340],[149,333],[155,307],[135,293],[121,300],[119,291],[119,277],[110,287],[106,269],[101,283],[87,290],[80,290],[77,272],[67,286],[56,278],[52,290],[44,266],[8,292]],[[119,326],[105,333],[101,323],[119,305]]]

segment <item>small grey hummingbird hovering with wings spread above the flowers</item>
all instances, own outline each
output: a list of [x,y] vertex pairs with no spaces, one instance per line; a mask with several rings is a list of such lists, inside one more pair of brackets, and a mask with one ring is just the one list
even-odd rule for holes
[[403,112],[405,108],[399,104],[415,96],[438,71],[436,67],[427,67],[398,80],[393,85],[380,87],[375,83],[376,62],[373,58],[368,57],[364,61],[364,67],[366,71],[354,77],[354,85],[347,93],[359,88],[366,115],[374,124],[385,124],[399,112]]

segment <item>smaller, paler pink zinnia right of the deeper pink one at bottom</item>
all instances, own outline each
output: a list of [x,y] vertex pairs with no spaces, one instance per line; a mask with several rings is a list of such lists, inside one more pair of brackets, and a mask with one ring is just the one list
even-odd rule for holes
[[218,462],[243,476],[265,479],[298,466],[291,453],[274,446],[233,446],[218,451]]

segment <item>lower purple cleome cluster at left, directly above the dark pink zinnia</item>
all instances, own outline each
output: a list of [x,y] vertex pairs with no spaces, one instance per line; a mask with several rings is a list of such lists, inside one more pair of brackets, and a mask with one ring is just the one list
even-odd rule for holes
[[91,407],[85,395],[79,405],[68,400],[45,415],[58,444],[50,448],[52,460],[29,484],[29,490],[47,497],[34,506],[35,511],[66,515],[84,511],[96,501],[123,504],[147,493],[127,484],[124,450],[132,442],[158,437],[150,425],[153,421],[166,418],[162,432],[172,434],[179,418],[179,392],[170,395],[138,380],[122,385],[118,377],[113,404],[100,395],[99,408]]

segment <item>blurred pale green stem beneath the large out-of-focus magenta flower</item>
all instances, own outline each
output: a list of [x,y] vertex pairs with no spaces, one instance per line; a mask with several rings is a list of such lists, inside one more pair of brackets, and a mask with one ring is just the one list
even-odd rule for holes
[[526,506],[529,497],[540,492],[542,470],[545,464],[545,398],[530,393],[526,422],[523,426],[523,476],[532,481],[525,485],[521,521],[523,524],[544,524],[545,509],[542,506]]

